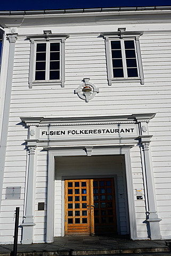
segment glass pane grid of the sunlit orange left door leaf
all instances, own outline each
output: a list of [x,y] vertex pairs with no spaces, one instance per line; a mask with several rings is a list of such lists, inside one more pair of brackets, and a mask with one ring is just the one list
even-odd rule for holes
[[68,182],[68,224],[87,223],[87,182]]

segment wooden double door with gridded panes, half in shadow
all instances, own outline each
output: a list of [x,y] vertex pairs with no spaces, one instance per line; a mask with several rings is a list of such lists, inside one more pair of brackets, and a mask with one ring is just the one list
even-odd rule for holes
[[117,233],[113,178],[65,180],[65,234]]

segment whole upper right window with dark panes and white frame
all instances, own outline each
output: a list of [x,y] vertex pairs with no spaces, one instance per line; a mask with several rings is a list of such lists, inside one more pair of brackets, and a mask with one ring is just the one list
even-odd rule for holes
[[115,82],[141,82],[144,84],[139,37],[142,31],[103,33],[107,54],[109,85]]

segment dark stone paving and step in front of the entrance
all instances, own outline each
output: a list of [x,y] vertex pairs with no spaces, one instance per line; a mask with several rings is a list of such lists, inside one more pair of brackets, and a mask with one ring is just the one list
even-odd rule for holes
[[[123,239],[106,236],[55,237],[47,244],[19,244],[18,256],[171,256],[170,241]],[[10,256],[13,245],[0,244],[0,256]]]

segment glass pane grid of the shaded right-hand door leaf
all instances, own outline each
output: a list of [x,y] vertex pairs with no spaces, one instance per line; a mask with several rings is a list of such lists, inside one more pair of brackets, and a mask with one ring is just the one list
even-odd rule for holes
[[113,223],[114,183],[111,179],[94,180],[94,222]]

